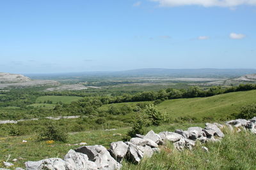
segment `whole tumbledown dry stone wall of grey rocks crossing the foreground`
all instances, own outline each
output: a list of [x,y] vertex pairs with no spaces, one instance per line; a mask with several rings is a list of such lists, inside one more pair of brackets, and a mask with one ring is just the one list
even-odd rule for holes
[[[130,141],[117,141],[110,145],[109,150],[101,145],[81,146],[76,150],[69,150],[64,159],[51,158],[39,161],[25,162],[27,170],[55,169],[55,170],[115,170],[121,169],[122,160],[126,159],[138,164],[143,157],[152,157],[154,152],[160,152],[159,145],[167,142],[173,143],[177,150],[188,148],[191,150],[196,141],[202,143],[220,141],[224,137],[221,129],[230,128],[230,131],[241,131],[249,129],[256,134],[256,117],[251,120],[237,119],[221,124],[205,124],[205,128],[189,127],[187,131],[181,129],[175,132],[160,132],[156,134],[149,131],[145,136],[137,134],[136,138]],[[202,146],[205,152],[210,152],[208,148]],[[17,168],[21,170],[21,168]]]

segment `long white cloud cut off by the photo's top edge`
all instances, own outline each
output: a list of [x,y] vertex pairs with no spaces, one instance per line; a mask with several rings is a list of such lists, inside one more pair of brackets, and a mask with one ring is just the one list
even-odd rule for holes
[[159,6],[185,6],[185,5],[199,5],[199,6],[221,6],[234,7],[239,5],[256,5],[256,0],[150,0],[159,3]]

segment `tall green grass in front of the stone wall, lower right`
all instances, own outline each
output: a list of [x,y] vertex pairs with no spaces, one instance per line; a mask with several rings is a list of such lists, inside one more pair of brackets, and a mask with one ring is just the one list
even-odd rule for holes
[[248,131],[228,132],[216,143],[197,143],[193,150],[179,152],[168,145],[150,159],[134,165],[124,162],[122,170],[142,169],[256,169],[256,136]]

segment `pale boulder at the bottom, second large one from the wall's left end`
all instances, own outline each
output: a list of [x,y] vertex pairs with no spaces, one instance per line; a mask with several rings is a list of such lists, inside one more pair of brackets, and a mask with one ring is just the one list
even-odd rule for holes
[[97,170],[97,165],[95,162],[88,160],[87,155],[74,150],[69,150],[64,160],[75,167],[76,170]]

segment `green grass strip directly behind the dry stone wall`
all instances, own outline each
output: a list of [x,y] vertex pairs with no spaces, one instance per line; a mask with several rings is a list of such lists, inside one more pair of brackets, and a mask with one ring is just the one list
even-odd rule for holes
[[[148,127],[148,131],[151,129],[154,129],[155,132],[174,131],[175,129],[187,129],[191,126],[204,127],[204,124],[161,125],[159,127]],[[24,167],[24,162],[28,160],[41,160],[47,157],[63,158],[68,150],[79,147],[74,145],[76,143],[86,142],[88,145],[103,145],[109,148],[111,142],[122,140],[129,130],[130,128],[121,128],[115,131],[97,130],[71,133],[68,135],[67,143],[56,142],[52,144],[47,144],[45,141],[36,141],[35,134],[31,134],[30,136],[0,138],[0,168],[4,167],[1,163],[6,161],[9,154],[11,155],[10,160],[22,157],[23,160],[10,162],[15,164],[15,167]],[[114,134],[118,135],[114,136]],[[22,143],[22,140],[27,140],[28,142]],[[71,144],[71,146],[68,144]]]

